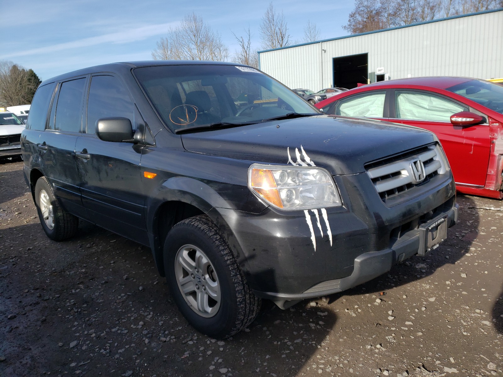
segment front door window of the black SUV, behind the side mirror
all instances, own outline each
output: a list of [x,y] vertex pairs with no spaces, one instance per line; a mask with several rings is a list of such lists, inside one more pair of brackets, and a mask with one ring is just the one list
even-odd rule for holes
[[96,133],[96,121],[101,118],[123,117],[133,122],[134,105],[127,90],[115,76],[91,78],[88,97],[87,133]]

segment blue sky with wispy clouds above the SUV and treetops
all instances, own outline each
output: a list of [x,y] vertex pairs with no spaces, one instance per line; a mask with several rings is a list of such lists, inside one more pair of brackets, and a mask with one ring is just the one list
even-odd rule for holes
[[[254,47],[260,47],[259,25],[269,0],[7,0],[2,2],[0,60],[32,68],[41,79],[92,65],[150,60],[156,42],[195,12],[217,31],[232,53],[232,35],[250,27]],[[354,0],[307,2],[273,0],[283,11],[292,40],[300,41],[308,20],[320,39],[347,35],[342,26]],[[16,17],[17,15],[17,17]],[[7,20],[10,20],[9,22]],[[16,23],[14,23],[16,21]]]

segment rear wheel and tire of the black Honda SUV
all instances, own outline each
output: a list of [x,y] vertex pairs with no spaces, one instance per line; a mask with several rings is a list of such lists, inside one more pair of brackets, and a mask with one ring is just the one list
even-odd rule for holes
[[35,184],[35,206],[45,234],[51,240],[62,241],[73,237],[78,228],[78,217],[66,212],[56,200],[47,178]]

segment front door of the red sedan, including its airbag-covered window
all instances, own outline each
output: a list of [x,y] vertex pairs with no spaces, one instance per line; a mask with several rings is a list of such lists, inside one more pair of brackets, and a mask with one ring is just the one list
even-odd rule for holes
[[390,121],[434,132],[444,147],[457,184],[483,187],[489,163],[489,126],[454,126],[451,115],[469,107],[438,93],[395,89]]

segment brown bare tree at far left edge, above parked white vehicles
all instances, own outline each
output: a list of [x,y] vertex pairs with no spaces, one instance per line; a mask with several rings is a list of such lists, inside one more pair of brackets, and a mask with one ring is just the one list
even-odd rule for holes
[[29,105],[40,84],[32,69],[9,60],[0,61],[0,106]]

